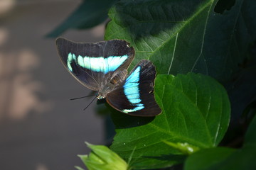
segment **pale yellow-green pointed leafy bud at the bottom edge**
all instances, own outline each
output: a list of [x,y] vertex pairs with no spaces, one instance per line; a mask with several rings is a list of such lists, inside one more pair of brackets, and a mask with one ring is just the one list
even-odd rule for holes
[[[103,145],[91,145],[86,142],[87,147],[92,149],[89,156],[79,155],[82,162],[89,170],[127,170],[128,164],[116,153]],[[80,167],[78,167],[80,168]]]

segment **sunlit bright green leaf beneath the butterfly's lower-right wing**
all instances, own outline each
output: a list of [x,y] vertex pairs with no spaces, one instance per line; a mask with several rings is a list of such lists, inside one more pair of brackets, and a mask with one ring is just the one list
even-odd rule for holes
[[[153,169],[183,162],[186,147],[218,145],[228,128],[230,103],[223,86],[202,74],[159,75],[156,101],[162,109],[156,118],[137,118],[114,112],[117,135],[110,147],[128,159],[134,169]],[[187,147],[188,148],[188,147]]]

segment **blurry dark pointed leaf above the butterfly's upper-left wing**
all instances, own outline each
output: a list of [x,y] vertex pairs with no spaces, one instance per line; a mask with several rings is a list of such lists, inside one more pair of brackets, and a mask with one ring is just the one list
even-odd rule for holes
[[107,11],[115,1],[117,0],[82,1],[82,4],[60,26],[46,36],[56,38],[70,28],[87,29],[99,25],[107,19]]

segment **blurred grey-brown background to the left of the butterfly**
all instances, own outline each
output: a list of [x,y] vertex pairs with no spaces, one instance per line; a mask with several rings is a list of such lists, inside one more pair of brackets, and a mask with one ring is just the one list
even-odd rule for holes
[[[105,144],[92,98],[61,64],[55,39],[46,35],[79,0],[0,0],[0,169],[58,170],[82,166],[84,142]],[[103,40],[105,24],[68,30],[78,42]]]

